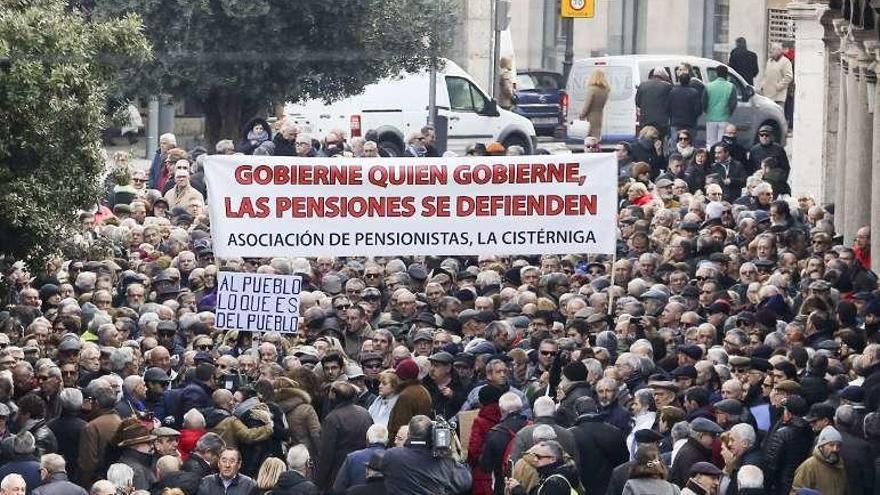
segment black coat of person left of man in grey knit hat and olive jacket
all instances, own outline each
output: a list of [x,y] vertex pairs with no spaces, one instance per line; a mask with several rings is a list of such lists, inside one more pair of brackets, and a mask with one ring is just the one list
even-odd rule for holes
[[803,418],[774,431],[764,445],[764,488],[771,495],[788,495],[794,472],[813,450],[813,430]]

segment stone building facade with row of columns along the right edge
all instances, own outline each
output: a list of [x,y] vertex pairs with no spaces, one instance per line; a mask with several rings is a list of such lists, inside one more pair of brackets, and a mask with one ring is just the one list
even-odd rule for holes
[[834,203],[852,244],[870,225],[880,271],[880,0],[788,5],[796,26],[792,191]]

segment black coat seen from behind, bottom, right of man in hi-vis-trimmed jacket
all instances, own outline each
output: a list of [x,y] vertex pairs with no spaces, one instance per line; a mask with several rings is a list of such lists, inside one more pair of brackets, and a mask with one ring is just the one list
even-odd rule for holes
[[578,448],[581,484],[587,493],[604,494],[614,468],[629,459],[626,435],[598,415],[580,416],[570,431]]

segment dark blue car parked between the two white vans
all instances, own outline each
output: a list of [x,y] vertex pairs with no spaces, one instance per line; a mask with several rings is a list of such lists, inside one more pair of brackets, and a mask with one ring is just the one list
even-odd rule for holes
[[516,73],[516,106],[513,111],[532,121],[535,132],[553,135],[564,122],[568,107],[562,74],[546,70]]

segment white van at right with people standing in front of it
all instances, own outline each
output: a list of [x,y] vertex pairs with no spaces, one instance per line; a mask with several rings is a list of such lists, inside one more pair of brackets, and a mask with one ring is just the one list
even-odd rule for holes
[[[570,98],[566,127],[566,143],[573,148],[583,148],[589,126],[577,120],[584,107],[586,84],[596,69],[605,71],[611,86],[608,103],[605,105],[602,120],[602,144],[609,146],[618,141],[635,139],[638,133],[638,113],[636,111],[636,88],[648,78],[654,67],[663,67],[671,78],[675,68],[682,62],[693,66],[692,77],[703,83],[715,79],[715,68],[722,65],[716,60],[686,55],[621,55],[595,57],[576,60],[571,67],[566,91]],[[747,84],[733,69],[730,69],[730,82],[736,88],[739,103],[731,116],[731,123],[737,127],[737,140],[747,149],[758,142],[758,128],[769,125],[775,130],[775,140],[785,144],[788,124],[779,105],[769,98],[759,95],[755,88]],[[706,123],[703,117],[697,123],[697,140],[704,141]]]

